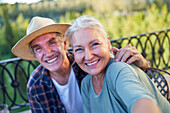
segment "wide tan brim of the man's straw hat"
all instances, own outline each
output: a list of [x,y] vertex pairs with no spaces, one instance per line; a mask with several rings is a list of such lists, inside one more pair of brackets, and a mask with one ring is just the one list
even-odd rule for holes
[[17,57],[20,57],[25,60],[36,60],[36,58],[30,51],[30,42],[38,36],[50,32],[59,32],[64,35],[69,26],[70,24],[52,24],[49,26],[42,27],[20,39],[12,48],[12,53]]

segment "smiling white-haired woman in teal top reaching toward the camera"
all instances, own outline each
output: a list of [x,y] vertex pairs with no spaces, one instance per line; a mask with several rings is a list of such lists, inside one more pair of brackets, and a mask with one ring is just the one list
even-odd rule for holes
[[168,113],[169,102],[135,65],[113,62],[111,43],[95,18],[77,18],[66,32],[75,61],[89,73],[81,84],[84,113]]

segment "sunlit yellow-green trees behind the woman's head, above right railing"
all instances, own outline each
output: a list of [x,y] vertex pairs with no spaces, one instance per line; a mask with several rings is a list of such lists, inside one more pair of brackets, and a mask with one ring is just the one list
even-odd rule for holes
[[91,9],[84,12],[67,12],[59,20],[60,23],[72,23],[81,15],[91,15],[98,18],[105,26],[111,39],[133,36],[141,33],[154,32],[170,28],[170,13],[167,5],[164,4],[160,9],[152,4],[146,11],[122,12],[114,11],[101,14]]

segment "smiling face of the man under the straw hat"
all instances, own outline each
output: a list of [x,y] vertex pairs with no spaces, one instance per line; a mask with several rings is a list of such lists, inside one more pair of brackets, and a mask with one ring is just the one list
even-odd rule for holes
[[47,33],[31,42],[37,61],[51,72],[59,70],[67,58],[65,44],[59,38],[56,33]]

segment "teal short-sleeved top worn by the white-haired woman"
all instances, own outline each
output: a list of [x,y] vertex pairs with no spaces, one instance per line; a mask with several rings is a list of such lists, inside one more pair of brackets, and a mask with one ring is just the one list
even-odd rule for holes
[[149,98],[162,113],[170,113],[170,104],[151,79],[135,65],[113,62],[107,65],[103,88],[99,95],[93,89],[92,76],[81,84],[84,113],[131,113],[135,102]]

